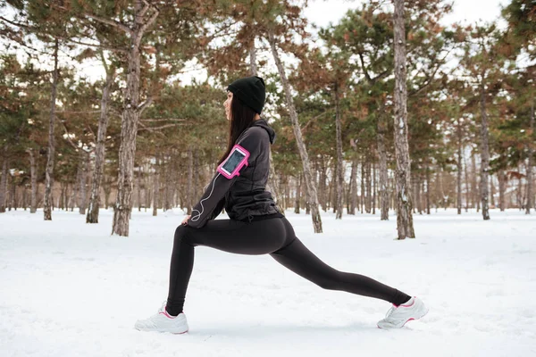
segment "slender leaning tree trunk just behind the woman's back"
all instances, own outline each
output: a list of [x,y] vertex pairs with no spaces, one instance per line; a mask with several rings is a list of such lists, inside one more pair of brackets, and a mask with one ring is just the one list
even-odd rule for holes
[[294,101],[292,100],[292,93],[290,90],[289,80],[285,74],[285,69],[281,63],[280,56],[278,54],[275,37],[273,36],[272,31],[269,32],[269,42],[272,47],[272,55],[279,71],[281,82],[285,90],[285,97],[287,102],[287,109],[289,110],[290,120],[292,121],[292,128],[294,129],[294,136],[296,137],[297,148],[303,163],[304,168],[304,179],[306,181],[306,192],[307,192],[307,201],[311,204],[311,218],[313,220],[314,233],[322,233],[322,219],[320,217],[320,212],[318,212],[318,197],[316,195],[316,186],[314,183],[313,170],[311,170],[311,163],[309,162],[309,155],[306,150],[306,143],[304,142],[301,134],[301,129],[299,127],[299,122],[297,120],[297,112],[294,107]]

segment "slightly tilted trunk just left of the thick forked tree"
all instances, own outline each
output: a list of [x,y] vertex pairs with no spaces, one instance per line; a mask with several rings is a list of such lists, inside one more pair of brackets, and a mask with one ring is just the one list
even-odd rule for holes
[[98,223],[98,210],[101,201],[100,186],[103,172],[105,170],[106,130],[108,129],[108,122],[110,121],[107,112],[108,100],[110,98],[110,88],[112,87],[115,76],[115,70],[106,66],[104,56],[102,61],[106,69],[106,84],[103,88],[103,95],[101,97],[98,131],[96,134],[95,170],[93,171],[93,180],[91,181],[91,195],[89,196],[89,208],[88,215],[86,216],[86,223]]

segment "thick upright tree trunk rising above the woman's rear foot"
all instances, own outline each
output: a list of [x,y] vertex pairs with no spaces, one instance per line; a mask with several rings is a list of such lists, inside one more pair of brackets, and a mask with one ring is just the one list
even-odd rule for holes
[[395,154],[397,157],[398,239],[415,238],[411,198],[411,162],[407,145],[406,28],[404,0],[394,0],[395,32]]

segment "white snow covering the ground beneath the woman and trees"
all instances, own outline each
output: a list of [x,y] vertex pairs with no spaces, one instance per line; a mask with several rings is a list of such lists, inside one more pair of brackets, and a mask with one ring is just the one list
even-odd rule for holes
[[[150,210],[149,210],[150,211]],[[390,304],[322,290],[270,256],[196,250],[185,335],[140,332],[167,296],[174,229],[183,212],[132,214],[110,236],[112,212],[0,215],[0,346],[7,356],[529,356],[536,355],[536,216],[490,210],[396,218],[287,213],[324,262],[418,295],[431,311],[405,328],[376,322]]]

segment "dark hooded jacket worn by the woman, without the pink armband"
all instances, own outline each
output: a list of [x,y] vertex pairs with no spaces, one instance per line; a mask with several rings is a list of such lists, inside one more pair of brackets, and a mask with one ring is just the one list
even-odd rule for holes
[[205,194],[194,206],[188,226],[201,228],[207,220],[214,220],[223,207],[231,220],[255,220],[255,217],[280,213],[272,195],[266,191],[270,173],[270,145],[275,132],[264,119],[255,120],[239,136],[235,144],[249,152],[247,166],[239,176],[225,178],[220,172],[205,188]]

